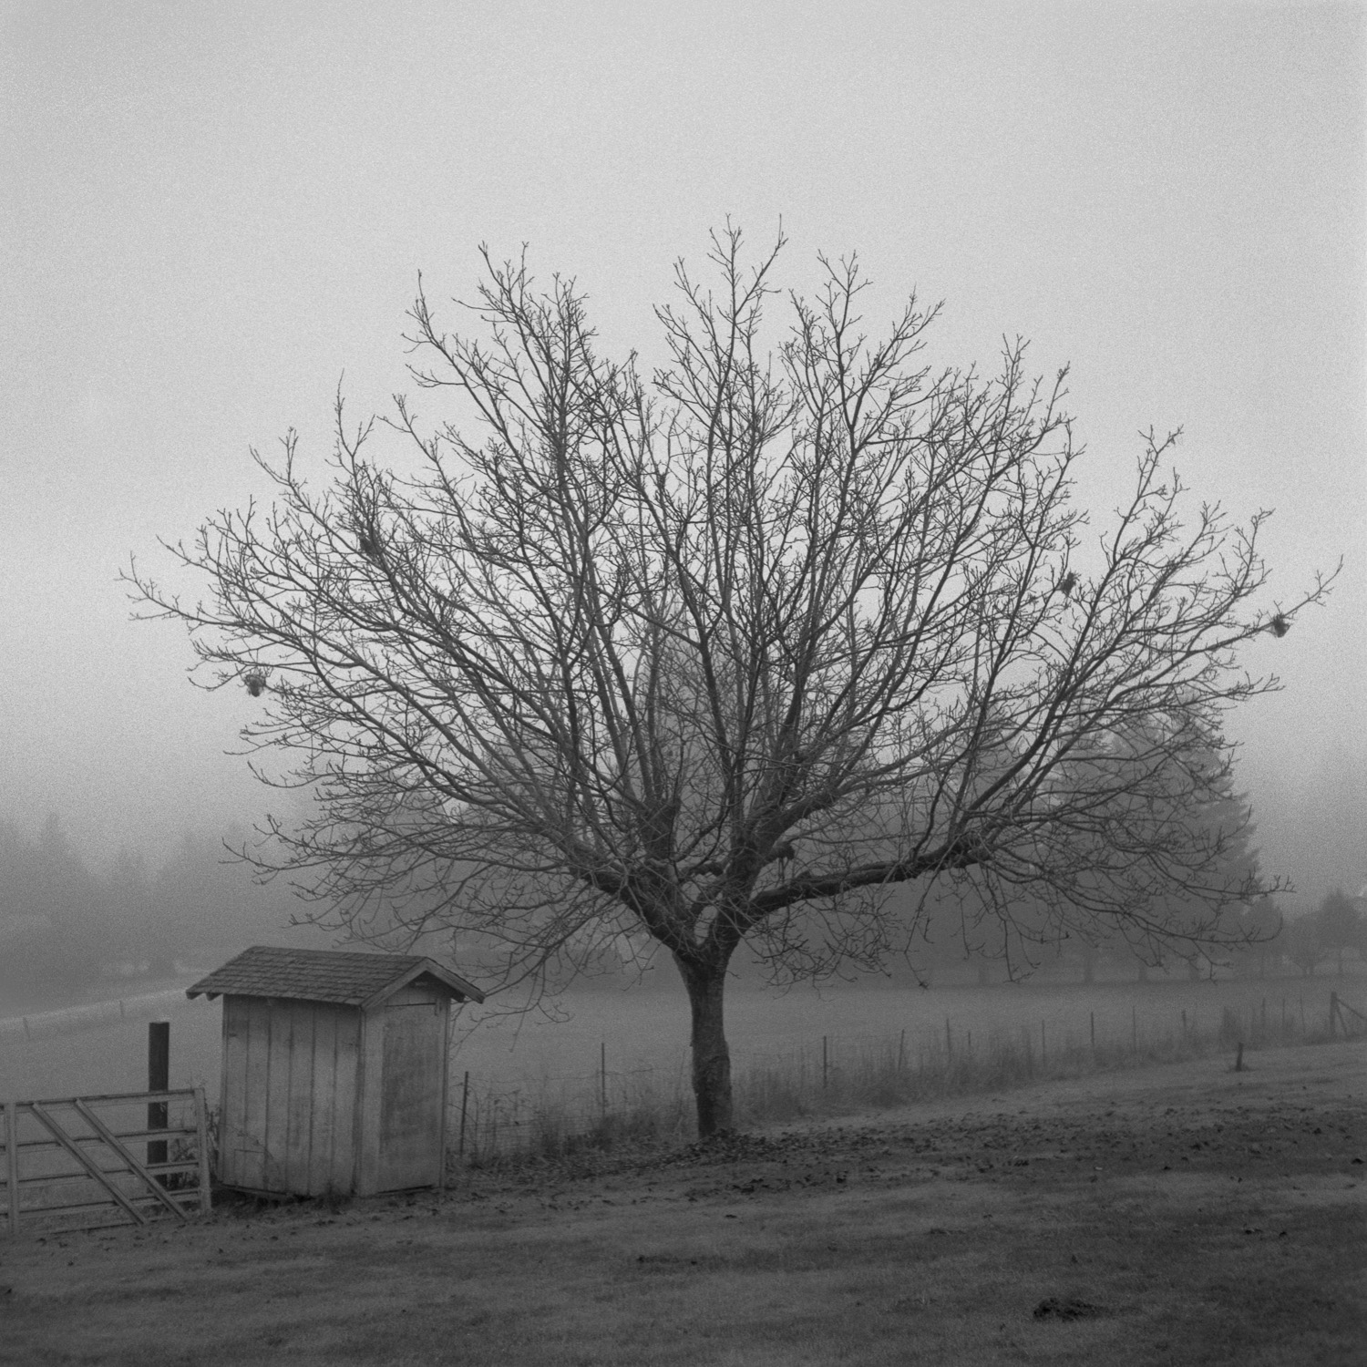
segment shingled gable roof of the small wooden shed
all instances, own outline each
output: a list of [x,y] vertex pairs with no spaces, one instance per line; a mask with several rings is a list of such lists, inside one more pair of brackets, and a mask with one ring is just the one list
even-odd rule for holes
[[186,988],[186,997],[283,997],[303,1002],[375,1006],[420,977],[435,977],[458,998],[484,992],[436,960],[411,954],[347,954],[331,949],[253,945]]

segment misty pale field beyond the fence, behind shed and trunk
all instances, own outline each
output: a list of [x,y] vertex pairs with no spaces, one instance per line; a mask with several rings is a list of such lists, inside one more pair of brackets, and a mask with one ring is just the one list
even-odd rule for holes
[[[1351,972],[1094,984],[1046,977],[930,988],[837,984],[787,992],[741,984],[727,1020],[741,1113],[772,1120],[886,1103],[917,1095],[917,1087],[921,1094],[972,1091],[1214,1048],[1233,1058],[1237,1043],[1252,1050],[1325,1039],[1331,992],[1367,1010],[1367,980]],[[674,1124],[675,1137],[690,1137],[682,990],[667,983],[578,990],[560,998],[556,1013],[454,1013],[452,1147],[462,1095],[469,1155],[534,1146],[548,1114],[570,1132],[586,1132],[647,1107],[656,1125]],[[202,1085],[216,1103],[221,1005],[187,1001],[183,986],[0,1018],[0,1095],[144,1087],[149,1020],[171,1023],[171,1085]]]

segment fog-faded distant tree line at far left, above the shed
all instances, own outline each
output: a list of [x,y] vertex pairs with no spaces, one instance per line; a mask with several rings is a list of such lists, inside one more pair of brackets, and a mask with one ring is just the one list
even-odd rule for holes
[[278,942],[288,890],[224,858],[217,839],[187,834],[160,868],[128,849],[97,868],[56,815],[37,835],[0,820],[0,991],[168,977],[205,950]]

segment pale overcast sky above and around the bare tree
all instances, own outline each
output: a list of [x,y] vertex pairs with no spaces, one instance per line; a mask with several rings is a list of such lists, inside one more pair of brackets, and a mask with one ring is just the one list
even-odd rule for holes
[[160,857],[269,796],[224,757],[242,690],[185,681],[116,574],[260,488],[247,448],[328,448],[403,384],[417,272],[477,245],[578,278],[612,346],[733,215],[786,278],[857,249],[936,355],[1003,334],[1073,365],[1109,507],[1136,431],[1275,507],[1288,599],[1234,726],[1264,864],[1367,876],[1364,10],[1264,4],[0,0],[0,815]]

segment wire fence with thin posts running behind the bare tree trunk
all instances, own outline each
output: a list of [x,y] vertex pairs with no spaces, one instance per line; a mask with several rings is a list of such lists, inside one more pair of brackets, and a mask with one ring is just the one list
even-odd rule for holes
[[[1263,997],[1203,1012],[1182,1007],[1166,1020],[1132,1007],[1128,1029],[1114,1018],[1098,1021],[1095,1012],[976,1031],[946,1017],[942,1028],[823,1035],[738,1059],[735,1124],[901,1106],[1219,1051],[1237,1051],[1243,1066],[1244,1050],[1338,1038],[1367,1038],[1367,1003],[1353,1006],[1338,992],[1310,1001]],[[604,1040],[596,1062],[592,1072],[543,1074],[517,1087],[459,1072],[450,1089],[451,1163],[477,1169],[694,1137],[682,1061],[674,1068],[610,1068]]]

